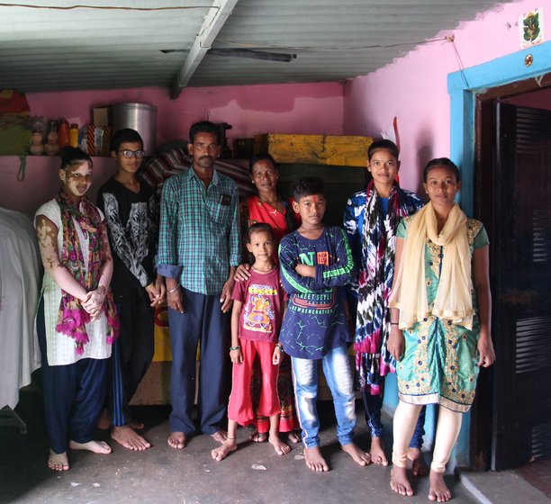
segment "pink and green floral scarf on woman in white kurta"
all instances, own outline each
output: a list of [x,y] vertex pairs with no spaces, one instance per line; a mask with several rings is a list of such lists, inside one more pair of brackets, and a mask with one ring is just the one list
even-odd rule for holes
[[[61,210],[61,226],[63,229],[60,264],[73,275],[78,284],[81,284],[86,291],[93,291],[97,289],[100,279],[103,262],[103,238],[106,232],[100,213],[86,197],[82,199],[80,205],[75,205],[63,188],[57,193],[56,202],[58,202]],[[79,207],[82,207],[83,211],[80,211]],[[85,237],[88,238],[87,268],[85,267],[84,256],[77,235],[75,220],[77,220]],[[107,342],[113,344],[113,340],[119,334],[119,320],[114,308],[113,295],[109,289],[105,293],[101,311],[107,317]],[[61,290],[56,330],[75,339],[75,351],[79,356],[84,353],[84,346],[88,343],[86,323],[89,321],[90,314],[83,308],[80,300]]]

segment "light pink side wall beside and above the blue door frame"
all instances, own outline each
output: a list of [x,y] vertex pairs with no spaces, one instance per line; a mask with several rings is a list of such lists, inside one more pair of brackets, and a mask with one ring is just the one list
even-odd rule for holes
[[[499,4],[476,20],[460,24],[439,37],[455,36],[464,67],[473,67],[520,50],[520,14],[542,7],[551,15],[551,0]],[[548,30],[547,30],[548,31]],[[422,166],[432,157],[449,156],[449,96],[447,74],[459,70],[450,42],[433,42],[411,51],[368,76],[345,86],[344,133],[379,137],[398,117],[404,187],[416,190]]]

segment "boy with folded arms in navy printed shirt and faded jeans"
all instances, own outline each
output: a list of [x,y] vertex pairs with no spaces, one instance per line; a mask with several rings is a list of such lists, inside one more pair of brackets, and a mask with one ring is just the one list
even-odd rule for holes
[[365,466],[370,456],[353,442],[355,396],[347,346],[351,334],[343,291],[354,267],[348,240],[342,229],[322,222],[326,200],[320,178],[299,180],[294,199],[293,208],[300,213],[302,225],[279,246],[282,281],[289,294],[279,340],[293,365],[306,466],[312,471],[329,471],[320,451],[318,360],[333,396],[339,443],[357,464]]

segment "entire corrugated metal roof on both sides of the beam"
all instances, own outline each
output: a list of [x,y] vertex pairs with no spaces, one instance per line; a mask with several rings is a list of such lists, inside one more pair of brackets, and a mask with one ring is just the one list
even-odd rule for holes
[[[23,92],[174,86],[190,58],[188,85],[339,80],[366,75],[438,32],[494,6],[484,0],[26,0],[0,2],[0,86]],[[207,14],[223,10],[219,26]],[[91,2],[92,4],[92,2]],[[126,7],[131,7],[129,10]],[[52,8],[54,6],[63,9]],[[48,7],[48,8],[46,8]],[[113,7],[117,7],[114,8]],[[135,10],[161,9],[161,10]],[[205,25],[203,25],[205,23]],[[203,28],[202,28],[203,27]],[[289,63],[213,56],[213,49],[292,53]],[[219,31],[220,30],[220,31]],[[162,50],[174,52],[164,53]],[[187,79],[186,79],[187,80]],[[185,83],[184,83],[185,84]]]

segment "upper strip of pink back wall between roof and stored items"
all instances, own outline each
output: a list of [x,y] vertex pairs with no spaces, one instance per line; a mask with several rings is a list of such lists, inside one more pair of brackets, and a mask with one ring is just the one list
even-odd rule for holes
[[194,121],[229,122],[228,138],[258,133],[342,134],[343,97],[340,83],[188,87],[177,100],[167,89],[144,87],[117,90],[27,94],[32,115],[65,117],[83,126],[90,109],[109,103],[140,102],[157,106],[158,147],[169,139],[187,139]]

